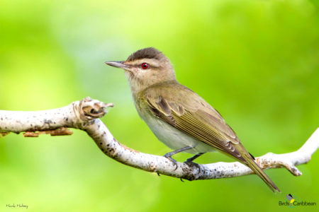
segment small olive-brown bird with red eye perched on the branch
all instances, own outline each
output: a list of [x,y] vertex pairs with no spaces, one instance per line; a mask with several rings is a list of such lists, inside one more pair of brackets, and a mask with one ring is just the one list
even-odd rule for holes
[[138,114],[157,139],[174,150],[164,155],[172,163],[177,164],[172,155],[182,151],[194,154],[185,161],[193,163],[203,153],[218,150],[250,167],[273,192],[280,192],[220,113],[177,82],[171,62],[162,52],[149,47],[125,61],[106,64],[125,70]]

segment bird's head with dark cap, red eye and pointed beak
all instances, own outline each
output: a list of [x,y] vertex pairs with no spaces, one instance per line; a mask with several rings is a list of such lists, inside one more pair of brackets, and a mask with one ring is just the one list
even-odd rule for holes
[[134,52],[125,61],[106,61],[106,64],[125,70],[133,92],[164,81],[176,80],[169,59],[152,47]]

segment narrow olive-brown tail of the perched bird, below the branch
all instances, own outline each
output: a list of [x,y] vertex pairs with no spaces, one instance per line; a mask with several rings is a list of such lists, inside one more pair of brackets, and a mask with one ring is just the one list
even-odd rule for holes
[[246,151],[246,153],[242,154],[242,158],[246,160],[246,165],[250,167],[262,180],[267,184],[267,186],[272,189],[272,192],[280,192],[279,188],[276,187],[274,182],[272,182],[272,179],[270,179],[264,170],[262,170],[259,165],[257,165],[256,162],[254,162],[254,158],[252,158],[252,155]]

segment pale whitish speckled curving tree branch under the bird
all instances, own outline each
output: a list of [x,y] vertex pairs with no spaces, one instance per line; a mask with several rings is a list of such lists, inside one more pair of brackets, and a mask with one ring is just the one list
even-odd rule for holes
[[[140,153],[128,148],[116,141],[106,125],[99,119],[106,114],[106,107],[113,107],[113,104],[104,104],[98,100],[85,98],[55,110],[36,112],[0,110],[0,137],[6,136],[8,132],[19,134],[23,131],[26,132],[23,136],[69,135],[72,134],[66,128],[69,127],[86,131],[108,157],[147,172],[157,172],[189,180],[237,177],[253,173],[249,167],[239,162],[205,165],[177,163],[176,167],[169,159],[162,156]],[[267,153],[257,158],[257,163],[263,169],[286,167],[293,175],[299,176],[301,172],[296,165],[308,163],[318,147],[319,129],[298,151],[285,154]]]

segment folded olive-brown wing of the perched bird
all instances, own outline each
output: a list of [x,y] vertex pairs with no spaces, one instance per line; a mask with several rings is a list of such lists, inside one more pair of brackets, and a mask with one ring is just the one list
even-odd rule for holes
[[[143,93],[147,106],[156,117],[190,136],[245,162],[235,148],[240,144],[233,129],[223,117],[189,88],[174,85],[148,88]],[[187,98],[185,98],[187,96]]]

